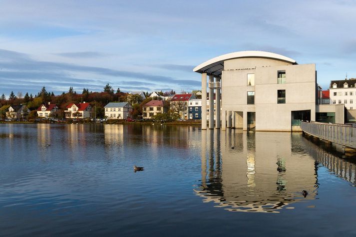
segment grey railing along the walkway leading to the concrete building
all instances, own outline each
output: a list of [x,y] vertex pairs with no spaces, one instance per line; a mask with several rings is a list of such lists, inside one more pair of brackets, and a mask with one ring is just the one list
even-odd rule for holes
[[315,137],[356,149],[356,127],[352,125],[301,121],[301,128]]

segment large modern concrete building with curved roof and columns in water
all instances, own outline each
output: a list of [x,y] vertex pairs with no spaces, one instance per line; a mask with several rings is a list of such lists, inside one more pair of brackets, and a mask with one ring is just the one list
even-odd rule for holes
[[[202,129],[207,128],[207,76],[209,94],[215,90],[216,101],[221,98],[221,104],[216,103],[216,128],[221,120],[222,129],[292,131],[300,120],[318,121],[319,111],[334,113],[335,120],[344,123],[344,113],[337,113],[336,106],[318,105],[315,64],[299,65],[271,52],[241,51],[215,57],[193,70],[202,74]],[[212,96],[209,101],[212,111]],[[209,118],[212,129],[213,114]]]

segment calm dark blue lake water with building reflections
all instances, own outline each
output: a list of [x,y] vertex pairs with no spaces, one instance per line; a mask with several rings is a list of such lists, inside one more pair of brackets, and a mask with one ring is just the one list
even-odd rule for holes
[[356,236],[356,158],[322,146],[300,133],[1,124],[0,236]]

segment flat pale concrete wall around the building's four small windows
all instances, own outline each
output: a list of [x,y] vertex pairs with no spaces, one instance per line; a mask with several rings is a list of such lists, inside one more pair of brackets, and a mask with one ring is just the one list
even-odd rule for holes
[[[285,84],[277,84],[279,70],[286,71]],[[255,86],[247,86],[248,73],[255,73]],[[285,104],[277,103],[278,90],[286,90]],[[244,129],[247,112],[256,112],[256,131],[291,131],[292,111],[311,110],[315,121],[315,90],[315,64],[292,65],[263,58],[227,60],[222,72],[222,112],[242,112]],[[247,104],[248,91],[255,91],[253,105]]]

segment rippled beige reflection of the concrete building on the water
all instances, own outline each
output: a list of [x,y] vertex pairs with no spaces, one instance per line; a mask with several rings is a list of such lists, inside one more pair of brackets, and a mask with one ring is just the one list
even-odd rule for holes
[[[291,203],[314,199],[317,167],[311,157],[293,152],[299,137],[203,130],[202,184],[195,191],[204,202],[237,212],[276,213]],[[309,193],[306,198],[303,190]]]

